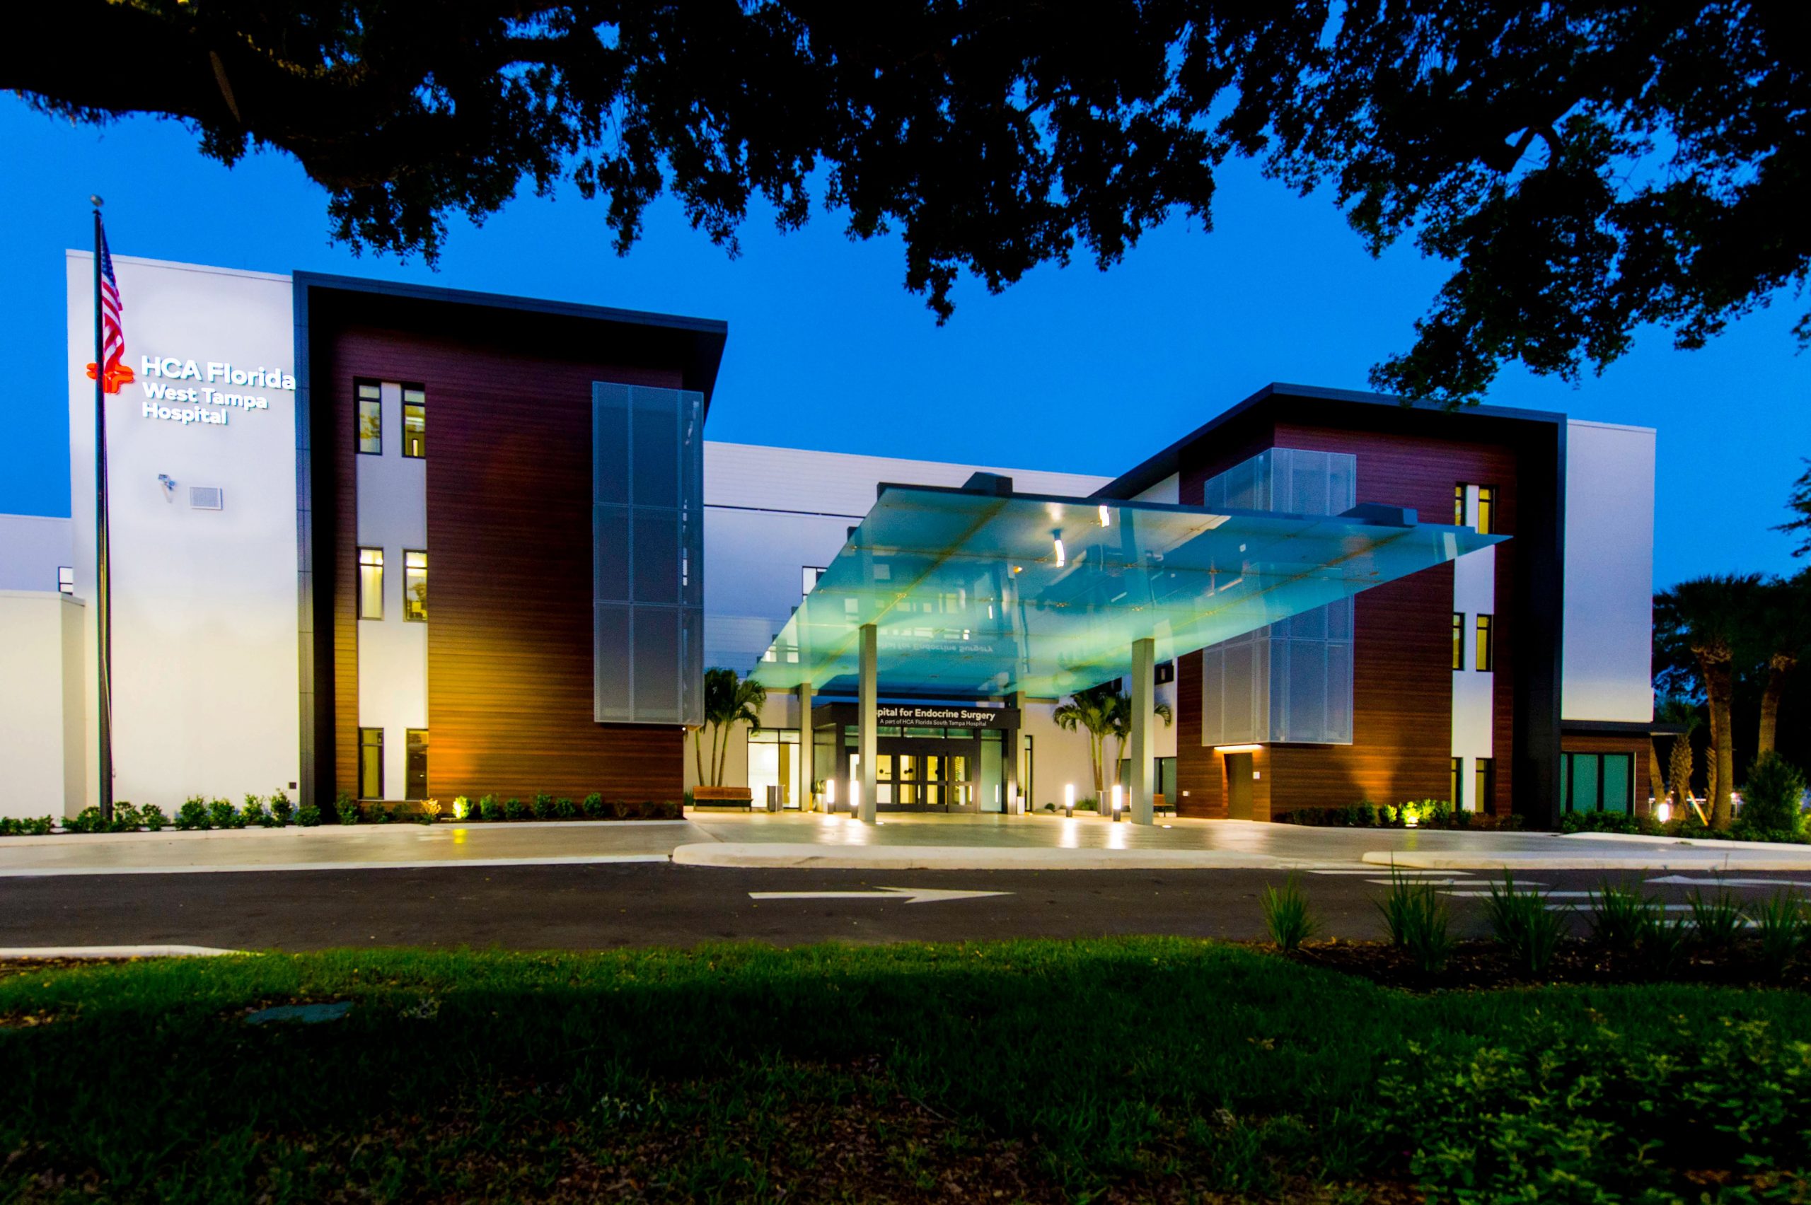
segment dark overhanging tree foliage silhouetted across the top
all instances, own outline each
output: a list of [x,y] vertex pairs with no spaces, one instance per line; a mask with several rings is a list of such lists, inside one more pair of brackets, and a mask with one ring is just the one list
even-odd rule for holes
[[[449,213],[569,179],[616,248],[670,190],[735,250],[750,199],[896,230],[938,320],[1150,226],[1212,226],[1230,156],[1324,188],[1373,251],[1454,264],[1375,384],[1476,400],[1641,324],[1699,346],[1807,271],[1802,9],[1782,0],[62,0],[0,87],[293,154],[335,237],[429,261]],[[813,188],[820,197],[813,197]],[[1798,326],[1811,338],[1811,317]]]

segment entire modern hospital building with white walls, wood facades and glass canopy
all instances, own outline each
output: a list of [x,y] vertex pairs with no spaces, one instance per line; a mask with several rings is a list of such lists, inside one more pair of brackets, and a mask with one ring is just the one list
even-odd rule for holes
[[[1646,805],[1653,431],[1279,384],[1112,478],[717,443],[723,322],[114,264],[114,798],[679,800],[723,666],[782,807],[1092,796],[1052,713],[1110,680],[1134,818]],[[0,814],[100,789],[91,280],[72,517],[0,516]]]

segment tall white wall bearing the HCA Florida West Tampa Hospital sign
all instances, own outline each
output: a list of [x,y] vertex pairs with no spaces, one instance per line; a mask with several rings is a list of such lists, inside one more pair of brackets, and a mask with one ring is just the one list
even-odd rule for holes
[[[290,279],[114,257],[125,364],[138,380],[107,403],[112,487],[114,798],[168,811],[190,792],[270,794],[299,778],[295,393],[206,380],[208,362],[295,371]],[[67,253],[69,469],[76,595],[94,595],[92,259]],[[143,356],[194,360],[201,380],[161,380]],[[181,371],[181,365],[177,367]],[[264,409],[203,394],[145,416],[154,385],[261,396]],[[176,483],[159,483],[159,474]],[[221,510],[190,505],[223,490]],[[83,624],[92,628],[92,624]],[[94,633],[83,680],[92,678]],[[96,742],[94,693],[87,742]],[[89,798],[100,783],[87,782]]]

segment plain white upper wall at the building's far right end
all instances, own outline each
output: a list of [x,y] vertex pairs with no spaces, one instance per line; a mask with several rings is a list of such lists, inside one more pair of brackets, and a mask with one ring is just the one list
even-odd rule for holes
[[1567,423],[1567,720],[1653,718],[1653,431]]

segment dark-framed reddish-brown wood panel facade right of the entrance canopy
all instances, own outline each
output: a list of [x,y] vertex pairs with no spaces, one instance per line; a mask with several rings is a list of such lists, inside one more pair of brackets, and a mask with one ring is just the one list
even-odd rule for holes
[[[1358,411],[1353,414],[1353,411]],[[1530,461],[1550,458],[1541,440],[1476,438],[1507,436],[1512,423],[1440,422],[1443,414],[1382,414],[1380,407],[1317,405],[1271,398],[1235,414],[1181,451],[1177,463],[1179,501],[1201,505],[1204,483],[1268,447],[1349,452],[1356,456],[1360,503],[1411,507],[1422,521],[1451,523],[1452,489],[1460,483],[1490,485],[1496,492],[1496,530],[1510,539],[1496,546],[1496,619],[1492,682],[1494,792],[1489,811],[1509,814],[1516,807],[1518,773],[1530,760],[1519,740],[1518,691],[1528,675],[1518,664],[1530,610],[1548,595],[1530,592],[1525,581],[1530,543],[1550,539],[1552,507],[1534,516],[1539,530],[1523,534],[1523,479]],[[1362,425],[1360,425],[1362,423]],[[1423,429],[1416,429],[1423,427]],[[1433,431],[1425,431],[1431,427]],[[1547,427],[1543,423],[1543,427]],[[1541,478],[1541,465],[1532,469]],[[1557,597],[1550,599],[1557,612]],[[1353,744],[1273,744],[1253,754],[1253,820],[1275,812],[1338,807],[1369,800],[1404,800],[1451,794],[1452,740],[1452,566],[1443,565],[1376,586],[1355,601],[1353,646]],[[1201,744],[1201,659],[1188,655],[1177,666],[1177,791],[1183,814],[1226,816],[1226,758]],[[1554,688],[1556,689],[1556,688]],[[1557,695],[1554,695],[1557,700]],[[1552,707],[1557,731],[1557,706]],[[1552,778],[1550,762],[1532,774]],[[1539,812],[1541,803],[1532,803]]]

